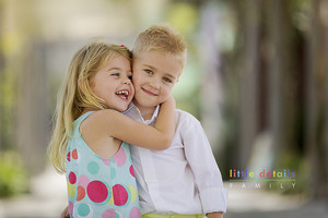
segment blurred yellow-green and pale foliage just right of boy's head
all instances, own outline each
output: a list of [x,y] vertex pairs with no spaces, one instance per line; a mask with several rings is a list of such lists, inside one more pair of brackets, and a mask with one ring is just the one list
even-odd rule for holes
[[[187,64],[179,81],[173,88],[177,108],[200,117],[201,69],[198,57],[197,32],[199,28],[199,9],[187,2],[173,2],[166,13],[166,21],[185,38],[188,48]],[[188,22],[186,22],[188,21]]]

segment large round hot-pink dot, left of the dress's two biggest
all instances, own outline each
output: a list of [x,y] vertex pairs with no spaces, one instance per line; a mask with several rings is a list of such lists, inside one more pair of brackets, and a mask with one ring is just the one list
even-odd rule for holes
[[101,181],[92,181],[86,187],[87,196],[92,202],[102,203],[108,196],[107,186]]

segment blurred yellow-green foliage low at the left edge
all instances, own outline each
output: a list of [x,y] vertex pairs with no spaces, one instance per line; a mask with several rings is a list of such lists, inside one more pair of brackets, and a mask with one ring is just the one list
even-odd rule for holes
[[28,192],[27,173],[17,153],[0,153],[0,197]]

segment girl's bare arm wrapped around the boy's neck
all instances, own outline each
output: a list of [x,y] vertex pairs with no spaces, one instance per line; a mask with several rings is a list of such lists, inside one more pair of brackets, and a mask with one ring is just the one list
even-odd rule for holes
[[159,119],[154,126],[134,121],[115,110],[97,112],[97,125],[112,137],[129,144],[150,148],[166,149],[169,147],[175,134],[175,100],[169,97],[162,104]]

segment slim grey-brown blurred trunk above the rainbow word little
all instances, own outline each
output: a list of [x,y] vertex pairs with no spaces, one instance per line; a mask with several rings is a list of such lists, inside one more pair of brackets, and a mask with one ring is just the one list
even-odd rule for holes
[[[241,72],[241,137],[239,166],[246,167],[258,131],[258,74],[259,74],[259,35],[261,1],[244,1],[239,9],[245,10],[241,21],[245,33],[244,71]],[[241,4],[238,4],[241,7]],[[245,7],[245,8],[244,8]],[[242,70],[243,70],[242,69]]]

